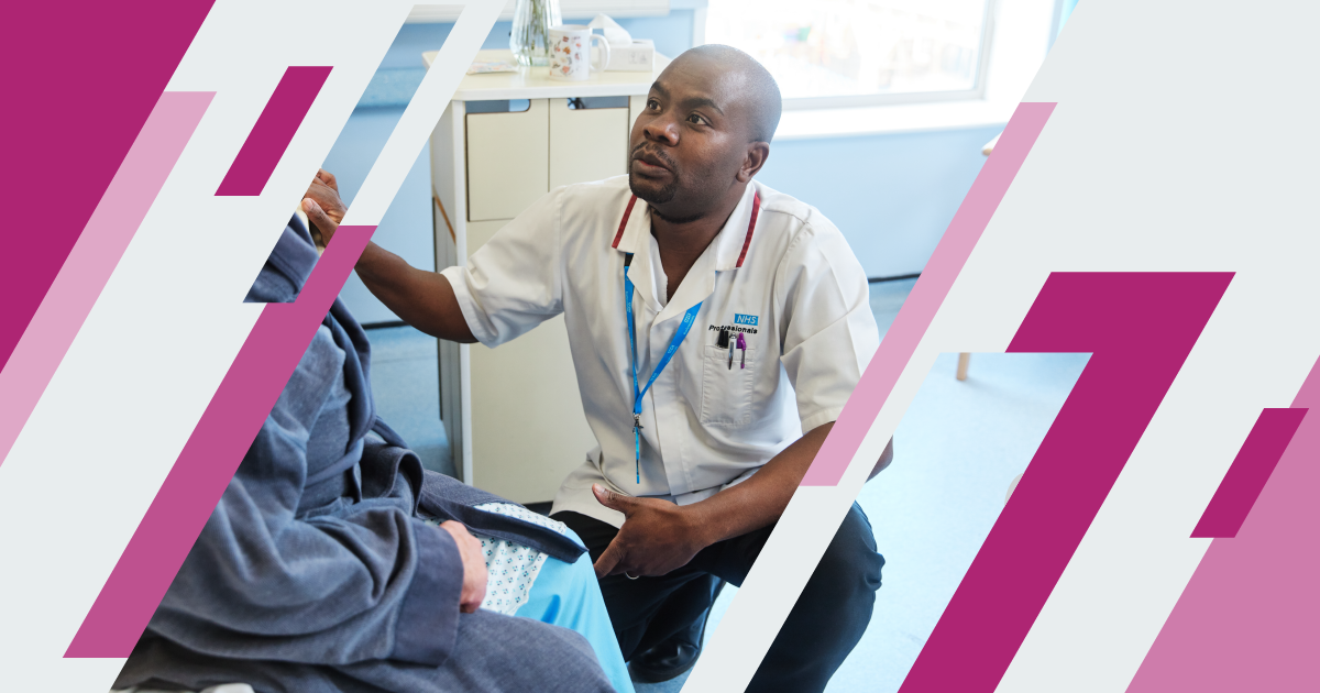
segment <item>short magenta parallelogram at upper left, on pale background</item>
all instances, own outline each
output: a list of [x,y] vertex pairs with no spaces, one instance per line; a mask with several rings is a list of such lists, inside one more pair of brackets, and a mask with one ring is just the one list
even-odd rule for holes
[[293,66],[284,71],[216,195],[261,194],[327,77],[330,67]]

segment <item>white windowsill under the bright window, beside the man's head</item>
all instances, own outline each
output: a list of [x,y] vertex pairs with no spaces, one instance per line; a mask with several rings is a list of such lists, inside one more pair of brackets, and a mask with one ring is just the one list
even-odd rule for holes
[[1003,125],[1016,107],[1015,102],[969,99],[850,108],[801,108],[784,111],[779,129],[775,131],[775,141]]

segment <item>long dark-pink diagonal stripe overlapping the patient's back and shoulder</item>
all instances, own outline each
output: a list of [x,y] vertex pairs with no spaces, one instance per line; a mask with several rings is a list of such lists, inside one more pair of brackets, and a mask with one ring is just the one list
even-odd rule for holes
[[66,657],[132,652],[375,230],[341,226],[297,301],[261,310]]

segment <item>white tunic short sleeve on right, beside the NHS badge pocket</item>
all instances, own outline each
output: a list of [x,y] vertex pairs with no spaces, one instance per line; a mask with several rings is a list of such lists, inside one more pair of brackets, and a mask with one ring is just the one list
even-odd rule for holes
[[784,255],[775,277],[781,360],[804,432],[838,418],[879,347],[869,286],[832,226],[804,227]]

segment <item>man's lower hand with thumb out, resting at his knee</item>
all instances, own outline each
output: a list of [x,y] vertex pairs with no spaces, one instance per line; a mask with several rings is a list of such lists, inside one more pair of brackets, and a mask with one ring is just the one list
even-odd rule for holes
[[591,484],[595,499],[624,515],[623,527],[595,561],[595,576],[663,576],[688,565],[710,545],[704,532],[678,506],[653,498],[631,498]]

